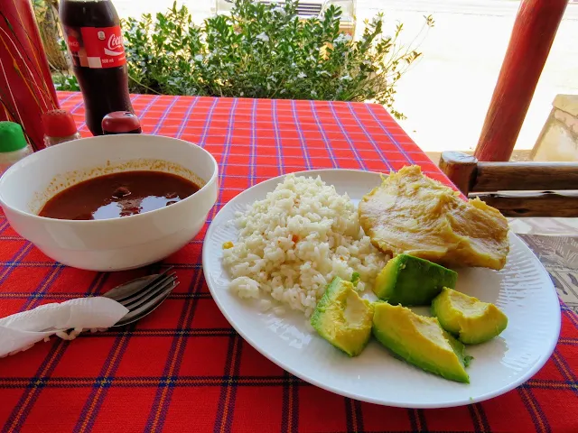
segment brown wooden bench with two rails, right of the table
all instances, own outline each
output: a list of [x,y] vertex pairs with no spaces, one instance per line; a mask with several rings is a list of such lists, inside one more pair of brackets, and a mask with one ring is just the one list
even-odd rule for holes
[[483,162],[443,152],[439,166],[466,197],[505,217],[578,217],[578,163]]

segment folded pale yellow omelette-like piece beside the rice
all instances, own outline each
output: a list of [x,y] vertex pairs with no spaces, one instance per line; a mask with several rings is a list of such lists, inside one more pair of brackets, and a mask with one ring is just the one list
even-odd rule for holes
[[359,223],[383,253],[406,253],[446,266],[502,269],[508,221],[479,198],[432,180],[418,166],[384,177],[359,203]]

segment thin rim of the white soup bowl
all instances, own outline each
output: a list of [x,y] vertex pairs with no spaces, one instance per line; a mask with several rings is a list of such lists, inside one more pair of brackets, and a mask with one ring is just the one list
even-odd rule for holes
[[[190,146],[191,148],[197,148],[202,152],[205,152],[209,158],[210,161],[213,163],[213,172],[210,176],[210,180],[207,180],[205,182],[205,184],[196,192],[194,192],[193,194],[191,194],[189,197],[187,198],[183,198],[182,200],[178,201],[177,203],[175,203],[174,205],[172,205],[171,207],[159,207],[158,209],[154,209],[154,210],[149,210],[147,212],[143,212],[142,214],[136,214],[136,215],[129,215],[127,217],[114,217],[114,218],[107,218],[107,219],[60,219],[60,218],[50,218],[50,217],[41,217],[40,215],[36,215],[33,214],[32,212],[25,212],[21,209],[18,209],[16,207],[13,207],[9,204],[7,204],[5,202],[5,200],[3,199],[3,194],[2,194],[2,185],[3,185],[3,179],[5,177],[5,174],[9,173],[10,171],[16,171],[16,170],[20,170],[18,168],[18,166],[23,163],[23,161],[33,157],[35,154],[40,153],[40,152],[44,152],[44,151],[51,151],[51,149],[56,148],[57,146],[67,146],[67,147],[72,147],[74,145],[86,145],[86,143],[84,144],[79,144],[79,142],[84,142],[87,140],[94,140],[94,141],[98,141],[98,140],[102,140],[104,139],[104,137],[114,137],[117,138],[118,136],[123,136],[123,135],[129,135],[131,136],[131,138],[135,138],[135,136],[141,136],[141,137],[158,137],[158,138],[162,138],[162,139],[168,139],[168,140],[172,140],[172,141],[177,141],[177,142],[182,142],[183,145],[187,145]],[[107,140],[110,140],[111,138],[107,138]],[[136,140],[139,140],[138,138]],[[158,158],[159,160],[162,161],[162,158]],[[97,166],[98,167],[98,166]],[[13,170],[14,169],[14,170]],[[95,179],[98,178],[99,176],[95,176],[94,178],[88,178],[86,180],[89,179]],[[196,143],[192,143],[192,142],[188,142],[186,140],[182,140],[181,138],[175,138],[175,137],[170,137],[170,136],[166,136],[166,135],[157,135],[157,134],[114,134],[114,135],[98,135],[98,136],[92,136],[92,137],[81,137],[79,139],[76,140],[70,140],[69,142],[65,142],[65,143],[60,143],[51,147],[46,147],[44,149],[42,149],[41,151],[38,152],[33,152],[29,155],[27,155],[26,157],[24,157],[22,160],[15,162],[12,166],[10,166],[7,170],[5,170],[5,172],[2,174],[2,176],[0,176],[0,206],[5,208],[7,207],[8,209],[10,209],[10,211],[14,212],[15,214],[18,214],[22,217],[27,217],[27,218],[32,218],[33,220],[36,219],[38,221],[50,221],[51,224],[65,224],[65,225],[93,225],[96,226],[97,224],[117,224],[119,221],[135,221],[135,218],[138,217],[145,217],[147,215],[153,215],[155,213],[161,212],[163,211],[163,209],[167,209],[167,208],[177,208],[178,206],[180,206],[184,201],[190,201],[190,199],[194,198],[195,196],[197,196],[201,191],[205,191],[207,189],[210,188],[210,185],[215,183],[215,181],[217,180],[217,178],[219,177],[219,163],[217,162],[217,160],[215,159],[215,157],[212,155],[212,153],[210,153],[209,151],[207,151],[206,149],[202,148],[199,144]],[[84,180],[83,180],[84,181]],[[77,184],[75,184],[77,185]],[[70,187],[69,187],[70,188]],[[55,196],[52,196],[51,198],[54,198]],[[51,199],[49,198],[49,200]]]

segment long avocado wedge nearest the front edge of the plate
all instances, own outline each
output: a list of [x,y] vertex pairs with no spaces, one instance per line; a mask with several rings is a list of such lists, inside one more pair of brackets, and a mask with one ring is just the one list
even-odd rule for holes
[[374,303],[373,335],[408,363],[456,382],[470,383],[465,367],[470,356],[464,346],[443,330],[437,318],[387,302]]

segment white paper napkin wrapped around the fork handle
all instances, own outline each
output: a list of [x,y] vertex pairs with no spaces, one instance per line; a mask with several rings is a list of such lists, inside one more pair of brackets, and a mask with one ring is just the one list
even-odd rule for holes
[[[0,357],[26,350],[53,335],[71,340],[83,329],[112,327],[126,313],[128,309],[116,300],[99,296],[45,304],[0,318]],[[68,329],[74,330],[67,334]]]

